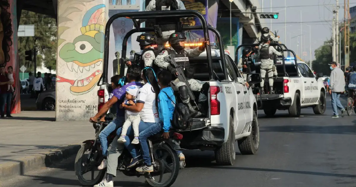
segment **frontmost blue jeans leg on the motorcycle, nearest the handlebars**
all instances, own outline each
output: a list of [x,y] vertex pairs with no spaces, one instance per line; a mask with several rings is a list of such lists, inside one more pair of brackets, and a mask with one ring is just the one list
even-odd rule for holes
[[106,157],[108,151],[108,136],[112,131],[119,128],[124,124],[125,117],[119,116],[114,121],[111,121],[99,134],[99,140],[101,142],[101,149],[103,150],[103,156]]

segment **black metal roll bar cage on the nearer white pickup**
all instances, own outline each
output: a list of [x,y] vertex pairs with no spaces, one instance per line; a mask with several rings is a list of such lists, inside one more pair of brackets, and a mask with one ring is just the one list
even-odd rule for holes
[[[125,17],[127,19],[131,19],[133,21],[133,24],[135,25],[135,29],[129,31],[126,36],[135,32],[147,32],[147,31],[154,31],[154,28],[140,28],[139,24],[137,23],[137,19],[156,19],[160,17],[198,17],[201,26],[183,26],[183,30],[200,30],[202,29],[204,32],[204,39],[205,41],[209,40],[209,33],[208,29],[213,31],[216,36],[218,37],[219,41],[219,47],[220,47],[220,54],[221,55],[221,62],[223,64],[223,70],[224,70],[224,76],[227,79],[227,74],[226,74],[226,68],[225,68],[225,59],[224,59],[224,47],[223,43],[220,42],[221,40],[221,35],[220,33],[215,29],[215,28],[208,28],[208,24],[206,23],[206,20],[202,14],[200,14],[198,11],[195,10],[170,10],[170,11],[139,11],[139,12],[121,12],[118,14],[115,14],[110,17],[108,22],[106,23],[105,26],[105,42],[104,42],[104,65],[103,65],[103,73],[98,81],[98,85],[100,85],[100,80],[103,79],[103,83],[108,83],[108,64],[109,64],[109,38],[110,38],[110,26],[114,20],[120,17]],[[126,57],[126,50],[127,50],[127,39],[129,37],[124,38],[123,45],[122,45],[122,57]],[[124,50],[125,49],[125,50]],[[125,52],[124,52],[125,51]],[[222,52],[221,52],[222,51]],[[213,68],[212,68],[212,58],[211,58],[211,48],[210,45],[206,46],[206,56],[208,57],[208,68],[209,68],[209,77],[210,80],[214,80],[214,74],[213,73]]]

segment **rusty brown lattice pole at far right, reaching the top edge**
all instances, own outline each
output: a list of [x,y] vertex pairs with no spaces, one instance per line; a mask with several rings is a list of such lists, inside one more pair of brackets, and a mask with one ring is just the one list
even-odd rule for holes
[[[346,4],[347,2],[347,4]],[[349,20],[349,12],[350,12],[350,1],[344,0],[344,51],[345,51],[345,68],[350,66],[350,20]]]

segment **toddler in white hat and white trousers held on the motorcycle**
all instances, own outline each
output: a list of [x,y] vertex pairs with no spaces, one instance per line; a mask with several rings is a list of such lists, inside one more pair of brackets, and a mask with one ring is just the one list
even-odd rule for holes
[[[128,106],[135,105],[138,88],[139,87],[136,85],[132,85],[132,86],[126,88],[126,98],[125,98],[124,103],[122,103],[120,105],[120,108],[124,108],[125,105],[128,105]],[[135,138],[132,140],[131,144],[138,144],[139,143],[138,142],[138,124],[140,124],[140,121],[141,121],[140,113],[126,110],[126,116],[127,116],[127,119],[126,119],[124,125],[122,126],[121,135],[120,135],[120,138],[117,140],[117,142],[119,142],[119,143],[126,142],[125,136],[127,133],[127,128],[129,128],[129,126],[132,123],[132,129],[133,129],[133,134],[134,134]]]

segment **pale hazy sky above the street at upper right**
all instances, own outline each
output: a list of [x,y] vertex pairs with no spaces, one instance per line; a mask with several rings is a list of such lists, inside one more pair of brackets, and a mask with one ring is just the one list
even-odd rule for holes
[[[271,6],[272,1],[272,6]],[[284,14],[284,1],[286,1],[286,13]],[[350,8],[356,6],[356,0],[349,0]],[[259,0],[262,7],[262,0]],[[317,6],[319,5],[319,6]],[[324,6],[325,5],[325,6]],[[321,45],[325,40],[331,38],[331,20],[333,20],[333,5],[336,5],[336,0],[263,0],[263,12],[279,12],[278,19],[272,20],[272,27],[270,31],[278,30],[277,35],[280,36],[279,40],[282,43],[286,43],[286,46],[300,54],[300,42],[302,42],[302,51],[307,52],[307,56],[303,56],[302,59],[309,61],[309,26],[311,30],[311,49],[312,59],[314,58],[314,50]],[[344,20],[344,0],[339,0],[339,21]],[[334,6],[335,7],[335,6]],[[335,7],[336,8],[336,7]],[[301,37],[295,37],[301,35],[300,33],[300,10],[302,11],[302,41]],[[261,12],[261,9],[257,9],[257,12]],[[286,16],[286,21],[284,21]],[[287,37],[284,36],[284,22],[286,22]],[[294,23],[293,23],[294,22]],[[295,23],[297,22],[297,23]],[[265,19],[266,25],[270,27],[270,20]],[[294,37],[294,38],[293,38]],[[304,38],[305,37],[305,38]],[[286,40],[287,39],[287,40]],[[290,39],[290,42],[289,42]],[[297,47],[298,45],[298,47]]]

